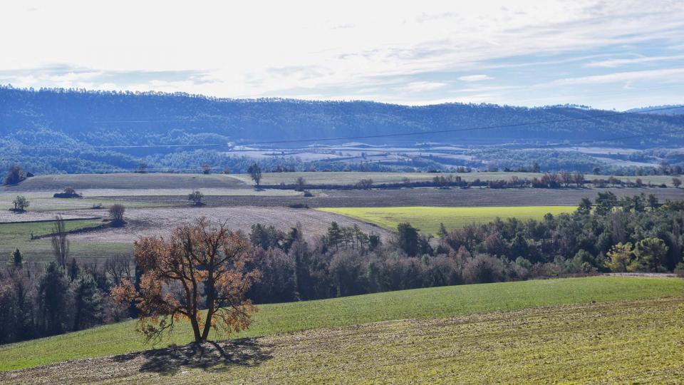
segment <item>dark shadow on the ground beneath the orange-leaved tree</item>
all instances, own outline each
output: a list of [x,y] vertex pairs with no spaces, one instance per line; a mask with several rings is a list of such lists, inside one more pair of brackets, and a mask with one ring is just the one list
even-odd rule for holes
[[257,366],[271,359],[272,348],[257,339],[188,344],[184,347],[147,350],[114,357],[115,361],[142,359],[141,372],[172,376],[182,369],[229,371],[234,366]]

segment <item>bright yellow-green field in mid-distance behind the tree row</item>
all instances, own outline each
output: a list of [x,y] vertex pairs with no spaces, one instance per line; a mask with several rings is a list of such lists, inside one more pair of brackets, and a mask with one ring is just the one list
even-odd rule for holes
[[423,234],[437,234],[440,223],[447,230],[457,229],[471,223],[487,223],[500,217],[516,217],[519,220],[541,219],[550,212],[558,215],[572,212],[575,206],[517,206],[517,207],[323,207],[325,212],[353,217],[374,223],[388,230],[397,230],[401,222],[409,222]]

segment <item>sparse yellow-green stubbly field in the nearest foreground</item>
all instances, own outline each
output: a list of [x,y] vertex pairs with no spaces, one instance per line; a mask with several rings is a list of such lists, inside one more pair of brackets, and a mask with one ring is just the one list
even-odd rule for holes
[[8,384],[681,384],[684,298],[375,322],[0,372]]

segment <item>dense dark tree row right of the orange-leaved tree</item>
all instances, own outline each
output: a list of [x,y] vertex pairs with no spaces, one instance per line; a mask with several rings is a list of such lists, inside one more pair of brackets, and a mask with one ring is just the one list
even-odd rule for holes
[[284,234],[255,225],[250,239],[264,282],[250,295],[256,302],[284,302],[564,274],[684,270],[678,265],[683,212],[684,202],[600,193],[572,214],[452,231],[442,226],[438,242],[403,223],[395,238],[378,238],[372,247],[357,242],[355,231],[341,241],[345,230],[335,223],[314,242],[299,227]]

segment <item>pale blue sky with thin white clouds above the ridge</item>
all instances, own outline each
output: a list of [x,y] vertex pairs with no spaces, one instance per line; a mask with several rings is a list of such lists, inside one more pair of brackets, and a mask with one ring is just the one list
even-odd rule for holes
[[425,105],[684,103],[684,1],[2,1],[0,84]]

